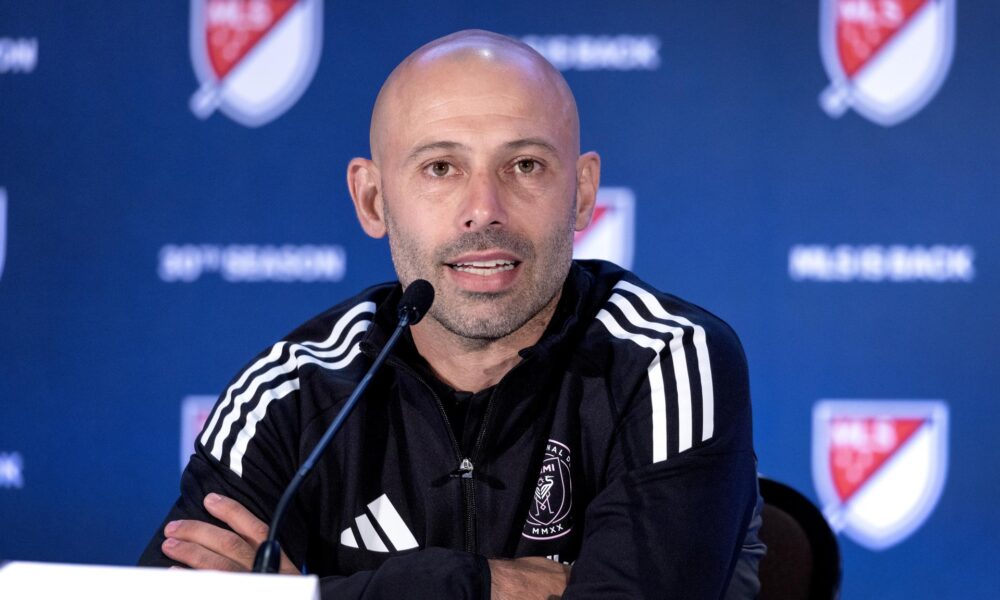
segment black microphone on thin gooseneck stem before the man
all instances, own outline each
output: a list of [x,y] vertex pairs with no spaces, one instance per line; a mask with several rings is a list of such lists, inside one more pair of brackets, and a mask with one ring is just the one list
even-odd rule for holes
[[358,398],[364,393],[365,388],[372,380],[372,376],[378,371],[382,363],[385,362],[385,357],[388,356],[389,351],[392,347],[396,345],[399,340],[399,336],[403,333],[403,330],[409,325],[416,325],[420,322],[420,319],[424,318],[427,310],[434,303],[434,286],[423,279],[418,279],[407,286],[406,290],[403,292],[403,297],[399,299],[398,314],[399,314],[399,324],[396,325],[396,329],[393,330],[392,335],[389,336],[389,340],[382,347],[382,351],[378,353],[375,357],[375,362],[372,363],[371,368],[365,373],[365,376],[361,378],[358,386],[354,388],[354,392],[351,393],[351,397],[347,399],[344,406],[337,413],[337,416],[330,423],[323,437],[320,438],[319,443],[313,448],[313,451],[306,458],[299,470],[295,472],[295,476],[292,477],[291,483],[285,488],[285,493],[281,495],[281,500],[278,501],[277,508],[274,509],[274,516],[271,518],[271,527],[267,532],[267,539],[264,543],[260,545],[257,549],[257,556],[254,557],[253,570],[255,573],[277,573],[278,568],[281,563],[281,545],[278,544],[276,539],[278,536],[278,528],[281,527],[281,521],[285,517],[285,513],[288,511],[288,505],[292,501],[292,497],[295,496],[295,492],[299,490],[299,486],[309,473],[312,472],[313,465],[319,460],[320,455],[326,450],[327,446],[333,440],[333,436],[337,434],[340,430],[341,425],[347,419],[348,415],[351,414],[351,410],[354,409],[354,405],[358,403]]

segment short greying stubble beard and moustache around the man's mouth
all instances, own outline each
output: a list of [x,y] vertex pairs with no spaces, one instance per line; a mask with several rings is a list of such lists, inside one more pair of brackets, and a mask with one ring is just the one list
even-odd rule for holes
[[[573,258],[572,221],[553,230],[538,250],[519,234],[490,228],[461,234],[453,242],[425,252],[403,233],[387,204],[383,200],[382,210],[400,282],[405,287],[417,279],[430,281],[436,296],[427,316],[471,347],[482,347],[519,331],[552,304],[562,290]],[[497,249],[519,256],[523,261],[519,268],[531,267],[531,272],[521,274],[517,288],[498,293],[467,292],[443,281],[441,269],[448,268],[442,267],[447,260],[465,252]],[[545,257],[548,264],[538,262],[538,256]]]

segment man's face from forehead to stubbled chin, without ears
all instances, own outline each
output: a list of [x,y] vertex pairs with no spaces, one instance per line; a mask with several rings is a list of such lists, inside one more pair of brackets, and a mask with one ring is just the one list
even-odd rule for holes
[[578,142],[550,88],[530,69],[439,61],[390,105],[378,166],[393,263],[404,285],[433,284],[431,318],[461,337],[516,331],[569,269]]

